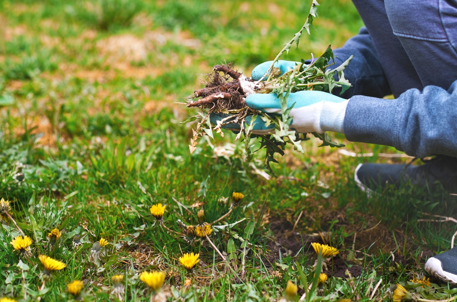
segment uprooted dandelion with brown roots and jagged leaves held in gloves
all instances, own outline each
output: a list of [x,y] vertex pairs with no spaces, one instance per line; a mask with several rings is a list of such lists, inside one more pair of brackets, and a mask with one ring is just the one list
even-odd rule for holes
[[[189,145],[190,152],[194,152],[197,148],[197,141],[203,135],[208,135],[213,138],[213,131],[223,136],[221,128],[228,124],[238,124],[239,133],[235,140],[238,140],[241,135],[244,135],[246,161],[253,158],[254,145],[250,142],[250,138],[260,140],[260,150],[266,149],[265,163],[266,167],[272,172],[270,163],[277,162],[274,158],[276,153],[284,155],[285,146],[287,143],[293,145],[295,150],[303,153],[301,141],[308,140],[307,134],[298,133],[291,129],[292,117],[290,111],[293,105],[287,108],[287,99],[290,93],[302,90],[318,90],[332,93],[333,89],[341,88],[341,94],[346,89],[351,87],[351,83],[344,77],[344,69],[349,64],[352,56],[336,68],[329,68],[334,63],[334,56],[331,46],[328,46],[324,53],[309,64],[305,64],[302,59],[294,68],[288,70],[281,75],[278,68],[274,67],[274,63],[279,60],[284,52],[288,52],[293,43],[300,41],[302,31],[306,29],[309,34],[309,27],[313,27],[313,18],[317,17],[317,5],[313,0],[308,18],[305,21],[302,29],[298,31],[292,40],[286,44],[273,60],[270,68],[265,73],[264,77],[258,81],[247,78],[244,74],[233,69],[232,63],[226,65],[215,65],[213,72],[207,74],[204,80],[204,88],[198,89],[189,96],[186,104],[187,107],[197,107],[200,109],[197,115],[192,116],[188,120],[182,122],[191,122],[199,119],[197,128],[193,130],[193,137]],[[338,76],[338,80],[334,75]],[[268,75],[268,77],[266,77]],[[277,94],[281,104],[281,115],[264,113],[255,110],[246,105],[245,98],[249,94],[255,93],[274,93]],[[197,98],[197,100],[193,100]],[[216,121],[216,125],[211,125],[210,115],[212,113],[222,113],[222,118]],[[266,126],[274,126],[268,134],[253,135],[253,125],[265,123]],[[329,136],[312,133],[315,137],[321,139],[323,143],[320,146],[341,147],[342,144],[335,143]]]

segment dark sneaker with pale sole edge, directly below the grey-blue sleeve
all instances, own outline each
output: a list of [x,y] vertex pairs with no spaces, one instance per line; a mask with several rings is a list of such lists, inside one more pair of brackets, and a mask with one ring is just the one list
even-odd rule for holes
[[436,156],[420,166],[397,164],[359,164],[354,173],[354,179],[363,191],[374,191],[384,188],[387,184],[399,187],[408,181],[414,186],[442,186],[452,191],[457,188],[457,158],[451,156]]

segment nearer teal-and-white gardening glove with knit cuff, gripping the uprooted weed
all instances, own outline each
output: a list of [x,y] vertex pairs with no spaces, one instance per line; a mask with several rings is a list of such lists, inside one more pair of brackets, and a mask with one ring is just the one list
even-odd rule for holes
[[[263,75],[263,74],[262,74]],[[287,107],[293,108],[290,111],[292,117],[291,129],[300,133],[335,131],[344,133],[343,122],[348,100],[337,97],[322,91],[299,91],[289,94]],[[281,105],[276,94],[250,94],[246,97],[246,104],[266,113],[281,114]],[[216,124],[228,115],[212,114],[211,121]],[[246,117],[247,125],[250,125],[250,117]],[[231,123],[223,128],[229,130],[240,129],[238,124]],[[260,116],[254,122],[253,134],[267,134],[271,132],[274,125],[266,127]]]

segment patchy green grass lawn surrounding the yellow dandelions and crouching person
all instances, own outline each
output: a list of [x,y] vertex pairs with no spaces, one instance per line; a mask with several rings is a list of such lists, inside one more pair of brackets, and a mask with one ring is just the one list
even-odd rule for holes
[[[299,49],[283,59],[316,56],[329,43],[339,47],[362,26],[350,1],[319,3],[317,31],[303,36]],[[234,62],[249,74],[271,60],[308,10],[307,1],[1,0],[0,198],[10,200],[12,216],[34,243],[32,257],[21,260],[25,267],[9,244],[18,230],[11,221],[2,222],[0,292],[18,301],[66,301],[66,285],[83,280],[86,300],[115,301],[111,276],[124,274],[125,301],[149,301],[138,273],[162,270],[165,292],[174,295],[169,301],[273,301],[283,296],[288,280],[303,293],[314,277],[316,257],[309,244],[322,238],[340,250],[335,261],[361,266],[361,275],[332,277],[330,263],[329,281],[312,300],[368,301],[365,293],[380,278],[377,297],[396,282],[427,298],[456,292],[447,285],[430,291],[409,282],[416,273],[427,276],[421,255],[449,249],[456,229],[450,222],[417,219],[429,218],[423,212],[455,215],[455,197],[406,185],[369,198],[352,181],[360,162],[406,162],[377,156],[397,152],[393,148],[332,134],[345,149],[375,156],[342,156],[317,148],[313,139],[303,142],[304,154],[288,149],[278,157],[273,169],[279,177],[269,180],[244,162],[244,142],[234,142],[230,131],[210,143],[200,140],[189,154],[195,125],[179,122],[195,111],[174,102],[191,94],[198,74],[214,63]],[[226,157],[214,151],[221,146],[229,151]],[[253,164],[265,171],[261,158],[256,155]],[[208,222],[221,217],[232,192],[245,197],[217,224],[246,220],[215,228],[211,238],[224,252],[234,240],[232,266],[241,275],[238,238],[254,222],[255,249],[248,248],[241,282],[228,269],[224,273],[224,261],[207,241],[189,243],[168,234],[149,213],[151,205],[166,204],[164,224],[181,232],[177,220],[197,224],[200,208]],[[53,228],[64,234],[49,250],[44,241]],[[313,235],[319,232],[322,238]],[[74,250],[76,233],[83,245]],[[110,244],[97,270],[88,255],[101,237]],[[195,275],[179,266],[181,251],[200,253]],[[39,254],[67,264],[42,292]],[[187,277],[192,287],[181,297]]]

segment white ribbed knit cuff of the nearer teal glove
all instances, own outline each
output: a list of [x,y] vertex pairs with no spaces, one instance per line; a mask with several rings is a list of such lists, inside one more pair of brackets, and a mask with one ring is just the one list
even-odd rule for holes
[[319,118],[320,128],[324,131],[344,133],[343,124],[348,100],[341,103],[324,102]]

